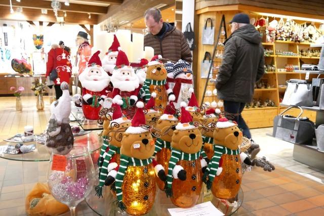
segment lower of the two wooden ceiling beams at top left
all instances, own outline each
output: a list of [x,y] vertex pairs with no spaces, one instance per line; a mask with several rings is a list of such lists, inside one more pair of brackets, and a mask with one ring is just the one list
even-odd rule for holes
[[[64,16],[63,11],[59,11],[58,15],[61,17]],[[91,15],[91,19],[89,19],[88,16],[89,16],[88,14],[68,12],[67,17],[64,17],[64,20],[66,24],[84,24],[84,25],[98,24],[97,14]],[[23,10],[22,13],[10,14],[10,7],[4,7],[4,6],[0,6],[0,20],[18,20],[18,21],[32,20],[32,21],[57,23],[53,11],[49,11],[48,14],[42,14],[37,9],[26,8]]]

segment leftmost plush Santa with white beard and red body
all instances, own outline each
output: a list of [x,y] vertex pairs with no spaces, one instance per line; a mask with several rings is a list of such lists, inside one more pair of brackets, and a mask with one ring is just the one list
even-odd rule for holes
[[82,84],[82,110],[87,119],[99,119],[101,104],[107,96],[110,77],[103,70],[97,51],[90,58],[88,66],[78,76]]

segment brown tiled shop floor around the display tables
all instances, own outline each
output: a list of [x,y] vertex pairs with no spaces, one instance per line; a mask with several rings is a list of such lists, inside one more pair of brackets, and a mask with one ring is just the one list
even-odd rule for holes
[[[23,98],[24,109],[15,112],[14,98],[0,99],[0,139],[34,125],[41,133],[50,116],[45,98],[45,111],[37,112],[34,98]],[[244,174],[244,203],[238,215],[324,215],[324,172],[294,161],[293,144],[267,136],[272,128],[252,130],[260,144],[259,156],[267,156],[276,165],[273,172],[255,167]],[[20,162],[0,158],[0,215],[25,215],[24,196],[36,182],[47,179],[48,162]],[[95,215],[85,204],[77,207],[78,215]],[[68,215],[68,214],[67,214]]]

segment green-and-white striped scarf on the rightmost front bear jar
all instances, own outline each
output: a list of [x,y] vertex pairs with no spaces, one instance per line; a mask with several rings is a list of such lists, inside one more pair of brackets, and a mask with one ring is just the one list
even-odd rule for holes
[[206,169],[209,182],[213,182],[214,178],[216,176],[218,167],[219,167],[219,161],[223,154],[228,155],[239,155],[239,149],[237,150],[231,150],[229,148],[226,148],[225,146],[221,145],[214,145],[214,156],[212,157],[211,161],[208,164],[208,167]]

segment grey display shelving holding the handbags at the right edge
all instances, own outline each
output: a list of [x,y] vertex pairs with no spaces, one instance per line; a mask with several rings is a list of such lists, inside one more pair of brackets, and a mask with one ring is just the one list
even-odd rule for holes
[[[280,106],[290,107],[290,105],[282,103],[280,104]],[[318,106],[302,106],[301,108],[316,112],[316,127],[320,124],[324,124],[324,110],[320,110]],[[294,144],[293,158],[298,162],[307,164],[320,170],[324,170],[324,152],[317,150],[315,139],[312,143],[307,143],[306,145]]]

